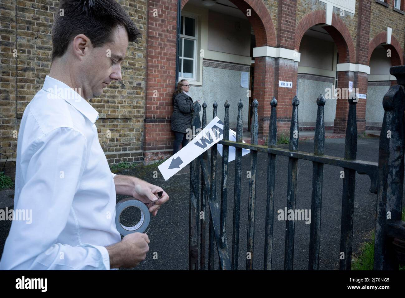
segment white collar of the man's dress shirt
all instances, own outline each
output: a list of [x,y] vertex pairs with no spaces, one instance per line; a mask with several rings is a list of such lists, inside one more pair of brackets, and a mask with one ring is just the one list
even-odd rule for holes
[[79,88],[72,89],[65,83],[47,75],[42,89],[49,92],[49,98],[61,98],[67,101],[93,124],[98,119],[98,111],[80,96]]

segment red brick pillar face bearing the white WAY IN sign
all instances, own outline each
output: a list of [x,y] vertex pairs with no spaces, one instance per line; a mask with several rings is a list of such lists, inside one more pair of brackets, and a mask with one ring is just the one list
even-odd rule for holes
[[[274,96],[277,99],[277,133],[285,131],[288,135],[290,132],[292,114],[291,102],[297,94],[297,73],[297,61],[286,58],[276,58]],[[292,82],[292,88],[279,87],[279,81]]]

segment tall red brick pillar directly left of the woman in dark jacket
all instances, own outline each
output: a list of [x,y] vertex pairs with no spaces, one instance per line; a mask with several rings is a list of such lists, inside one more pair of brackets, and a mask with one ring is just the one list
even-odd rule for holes
[[[157,9],[157,17],[153,16],[153,9]],[[167,158],[173,152],[170,118],[176,78],[177,2],[149,0],[147,32],[145,164]]]

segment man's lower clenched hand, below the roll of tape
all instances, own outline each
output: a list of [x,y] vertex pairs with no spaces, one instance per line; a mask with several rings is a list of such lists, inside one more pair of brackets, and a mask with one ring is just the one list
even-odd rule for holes
[[110,268],[132,268],[146,258],[150,242],[147,234],[132,233],[122,238],[121,242],[107,246]]

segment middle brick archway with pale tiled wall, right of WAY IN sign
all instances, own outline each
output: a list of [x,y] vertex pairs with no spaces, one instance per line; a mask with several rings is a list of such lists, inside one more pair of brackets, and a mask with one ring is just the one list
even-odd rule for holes
[[339,17],[333,15],[331,25],[325,22],[325,12],[314,11],[303,17],[296,28],[296,48],[301,53],[297,80],[298,117],[303,130],[314,130],[316,99],[322,93],[326,97],[326,130],[342,133],[348,103],[343,92],[335,96],[334,91],[343,90],[349,81],[354,81],[353,71],[339,70],[339,65],[354,63],[354,43]]

